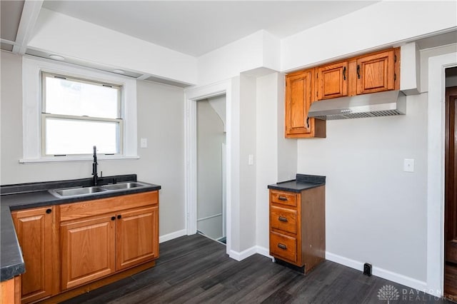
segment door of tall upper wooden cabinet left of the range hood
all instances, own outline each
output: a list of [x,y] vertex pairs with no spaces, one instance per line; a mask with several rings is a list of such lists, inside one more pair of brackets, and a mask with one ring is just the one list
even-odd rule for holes
[[286,76],[286,136],[311,133],[312,69]]

